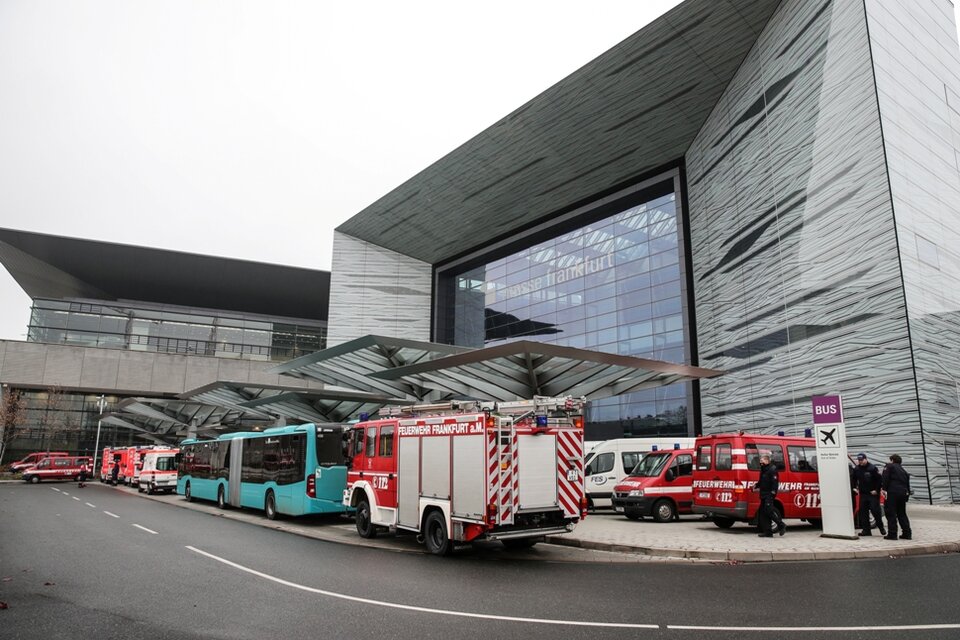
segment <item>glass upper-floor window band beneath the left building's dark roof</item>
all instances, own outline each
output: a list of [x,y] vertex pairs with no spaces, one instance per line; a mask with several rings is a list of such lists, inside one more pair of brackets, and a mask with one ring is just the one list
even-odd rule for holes
[[326,323],[173,307],[37,298],[27,340],[285,361],[323,349]]

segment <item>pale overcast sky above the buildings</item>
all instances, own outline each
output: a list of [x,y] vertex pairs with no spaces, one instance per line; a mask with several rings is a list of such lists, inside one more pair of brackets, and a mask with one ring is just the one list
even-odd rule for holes
[[[0,226],[329,269],[339,223],[676,4],[0,0]],[[23,340],[4,269],[0,303]]]

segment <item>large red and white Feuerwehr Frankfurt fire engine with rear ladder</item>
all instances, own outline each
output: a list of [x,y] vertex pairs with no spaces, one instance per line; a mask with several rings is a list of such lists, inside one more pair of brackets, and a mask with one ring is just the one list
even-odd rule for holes
[[418,534],[446,555],[456,542],[531,547],[586,512],[582,398],[452,401],[385,407],[348,435],[345,506],[357,532]]

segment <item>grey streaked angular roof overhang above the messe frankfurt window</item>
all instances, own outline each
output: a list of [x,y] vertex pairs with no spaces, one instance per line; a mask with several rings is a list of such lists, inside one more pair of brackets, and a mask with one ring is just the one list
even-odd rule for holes
[[438,264],[678,163],[779,3],[687,0],[337,230]]

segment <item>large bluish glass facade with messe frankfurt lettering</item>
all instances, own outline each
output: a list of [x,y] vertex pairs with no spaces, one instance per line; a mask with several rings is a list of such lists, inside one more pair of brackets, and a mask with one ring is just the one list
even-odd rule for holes
[[[438,338],[482,347],[515,340],[688,362],[675,194],[626,208],[522,251],[441,273],[449,301]],[[686,384],[593,401],[593,439],[689,432]]]

